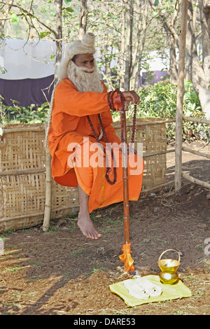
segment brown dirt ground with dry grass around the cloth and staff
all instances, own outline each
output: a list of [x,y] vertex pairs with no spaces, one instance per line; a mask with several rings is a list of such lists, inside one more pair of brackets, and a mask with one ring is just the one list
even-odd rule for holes
[[[170,147],[170,146],[169,146]],[[210,146],[190,145],[210,154]],[[174,153],[167,155],[167,179]],[[183,153],[183,170],[210,182],[208,159]],[[209,315],[210,191],[186,180],[141,195],[130,202],[130,241],[135,272],[125,274],[119,255],[124,244],[123,204],[92,213],[102,238],[83,237],[76,218],[3,234],[0,256],[1,315]],[[192,297],[127,307],[109,285],[134,274],[158,275],[158,258],[168,248],[179,251],[179,278]],[[176,255],[174,255],[176,257]]]

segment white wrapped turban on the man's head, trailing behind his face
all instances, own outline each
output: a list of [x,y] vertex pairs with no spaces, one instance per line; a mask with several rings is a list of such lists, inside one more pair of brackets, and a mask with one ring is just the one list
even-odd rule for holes
[[83,40],[78,40],[73,42],[67,51],[66,57],[62,59],[59,64],[58,71],[57,71],[57,78],[64,79],[67,78],[67,66],[69,61],[75,55],[82,55],[82,54],[94,54],[94,34],[87,33],[83,36]]

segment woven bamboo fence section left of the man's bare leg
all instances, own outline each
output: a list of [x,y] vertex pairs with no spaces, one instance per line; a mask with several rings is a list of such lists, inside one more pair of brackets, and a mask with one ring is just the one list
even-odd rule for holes
[[[0,146],[0,232],[43,222],[45,130],[43,125],[6,125]],[[76,188],[52,181],[51,218],[78,208]]]

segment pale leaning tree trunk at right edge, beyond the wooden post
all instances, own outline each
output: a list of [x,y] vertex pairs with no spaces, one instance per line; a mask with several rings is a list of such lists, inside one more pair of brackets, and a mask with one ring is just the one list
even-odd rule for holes
[[[205,34],[205,36],[202,36],[202,38],[204,37],[206,38],[207,34]],[[206,60],[205,54],[203,55],[204,55],[203,62],[206,61],[208,63],[208,59]],[[207,120],[209,120],[210,119],[210,90],[209,90],[209,81],[208,81],[209,76],[207,78],[207,76],[205,75],[205,71],[200,64],[200,59],[197,55],[197,48],[195,43],[195,31],[193,26],[193,5],[191,0],[189,0],[189,6],[188,6],[186,69],[188,70],[188,73],[190,75],[190,80],[193,83],[193,87],[195,89],[195,92],[197,93],[197,97],[200,100],[202,111],[205,113]],[[208,71],[208,65],[206,71]]]

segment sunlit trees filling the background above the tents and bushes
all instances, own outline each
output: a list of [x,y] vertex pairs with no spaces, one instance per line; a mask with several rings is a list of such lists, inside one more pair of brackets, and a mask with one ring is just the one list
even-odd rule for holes
[[[209,1],[188,3],[186,73],[209,118]],[[113,85],[122,90],[137,89],[151,50],[169,57],[170,82],[176,84],[181,0],[4,0],[0,1],[0,10],[2,37],[6,36],[10,22],[18,36],[21,27],[26,40],[38,37],[56,42],[55,73],[62,57],[62,42],[71,42],[78,34],[81,38],[85,31],[92,31],[97,35],[99,66],[104,68],[109,89]]]

